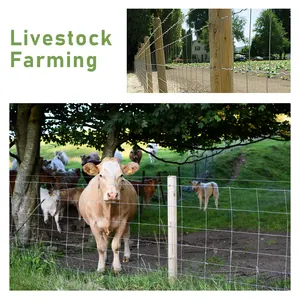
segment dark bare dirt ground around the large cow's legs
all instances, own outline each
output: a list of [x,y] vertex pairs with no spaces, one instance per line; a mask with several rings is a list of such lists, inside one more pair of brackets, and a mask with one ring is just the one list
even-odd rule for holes
[[[46,226],[44,243],[64,253],[59,260],[62,267],[95,271],[98,253],[94,242],[91,243],[90,228],[83,227],[82,220],[78,221],[76,210],[70,214],[72,218],[63,218],[60,222],[61,234],[56,231],[55,224]],[[53,230],[49,230],[51,227]],[[253,282],[258,289],[269,289],[274,280],[285,282],[290,278],[290,237],[286,233],[215,229],[189,234],[180,234],[179,231],[177,239],[179,275],[214,278],[221,274],[234,282]],[[168,265],[166,236],[160,239],[132,236],[130,248],[131,260],[123,264],[126,273],[149,272]],[[109,247],[108,269],[111,262]]]

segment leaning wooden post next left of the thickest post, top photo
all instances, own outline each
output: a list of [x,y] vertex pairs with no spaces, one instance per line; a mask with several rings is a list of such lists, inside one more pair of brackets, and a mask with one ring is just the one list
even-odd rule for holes
[[160,18],[154,18],[153,30],[155,40],[155,57],[157,66],[158,89],[160,93],[167,93],[168,85],[165,68],[165,52]]

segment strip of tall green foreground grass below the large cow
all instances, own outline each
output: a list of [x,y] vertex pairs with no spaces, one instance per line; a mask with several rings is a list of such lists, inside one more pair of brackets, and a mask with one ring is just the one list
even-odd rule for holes
[[[209,263],[222,263],[218,258]],[[287,288],[282,282],[270,283],[270,287]],[[255,278],[243,282],[229,283],[225,277],[214,275],[206,280],[195,276],[181,276],[169,283],[165,269],[155,272],[115,275],[111,271],[104,274],[80,272],[59,268],[55,256],[42,245],[28,249],[13,247],[10,255],[10,290],[94,290],[94,291],[197,291],[197,290],[251,290],[256,289]]]

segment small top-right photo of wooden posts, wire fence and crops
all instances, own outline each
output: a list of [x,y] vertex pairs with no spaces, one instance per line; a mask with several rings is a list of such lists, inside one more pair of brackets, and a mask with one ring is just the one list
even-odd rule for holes
[[290,93],[291,9],[127,9],[128,93]]

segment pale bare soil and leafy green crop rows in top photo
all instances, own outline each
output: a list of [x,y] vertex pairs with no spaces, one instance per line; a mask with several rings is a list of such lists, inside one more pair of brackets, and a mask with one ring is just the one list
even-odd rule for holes
[[[270,72],[269,72],[270,70]],[[291,61],[250,61],[234,62],[234,93],[290,93]],[[127,91],[143,93],[144,75],[138,79],[127,75]],[[157,72],[152,72],[153,92],[158,92]],[[209,93],[209,63],[171,63],[166,67],[169,93]]]

